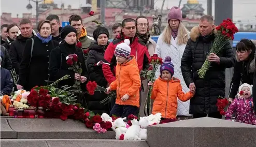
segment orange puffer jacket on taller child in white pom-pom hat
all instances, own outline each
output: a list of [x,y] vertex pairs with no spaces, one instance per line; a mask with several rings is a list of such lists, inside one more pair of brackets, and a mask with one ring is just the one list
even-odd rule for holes
[[[117,64],[116,80],[110,84],[111,90],[117,90],[116,104],[139,107],[139,88],[141,85],[138,64],[134,56],[123,64]],[[121,98],[128,94],[126,101]]]

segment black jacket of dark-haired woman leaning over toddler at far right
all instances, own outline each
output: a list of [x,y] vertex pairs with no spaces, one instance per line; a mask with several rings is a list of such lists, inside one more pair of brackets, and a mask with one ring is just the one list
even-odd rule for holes
[[249,64],[249,69],[247,72],[247,61],[236,62],[234,67],[234,74],[232,81],[230,83],[230,94],[229,97],[235,98],[237,91],[239,89],[240,82],[252,85],[253,75],[255,72],[255,56],[254,59]]

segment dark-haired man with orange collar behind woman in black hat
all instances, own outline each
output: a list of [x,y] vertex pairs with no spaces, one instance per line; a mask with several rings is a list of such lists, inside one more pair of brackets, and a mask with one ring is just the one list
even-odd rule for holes
[[69,17],[68,21],[71,26],[76,28],[77,42],[81,42],[82,49],[87,50],[91,45],[91,42],[94,42],[94,39],[87,35],[86,28],[82,24],[82,18],[77,14],[73,14]]

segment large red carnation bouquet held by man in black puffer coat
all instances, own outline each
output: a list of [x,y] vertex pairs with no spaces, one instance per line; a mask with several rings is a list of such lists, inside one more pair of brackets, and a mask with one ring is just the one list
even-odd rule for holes
[[[234,34],[238,32],[237,27],[232,22],[231,19],[223,20],[223,22],[216,27],[217,33],[214,40],[214,44],[211,47],[210,53],[218,54],[223,47],[225,46],[226,42],[229,40],[234,40]],[[209,54],[210,54],[209,53]],[[201,69],[198,70],[198,76],[200,78],[204,78],[206,71],[210,67],[210,63],[206,58],[203,66]]]

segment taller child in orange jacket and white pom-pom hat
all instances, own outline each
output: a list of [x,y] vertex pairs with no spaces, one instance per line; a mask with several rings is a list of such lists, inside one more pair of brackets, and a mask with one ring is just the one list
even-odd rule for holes
[[110,111],[111,115],[127,117],[129,114],[136,115],[139,110],[139,88],[141,86],[138,64],[136,58],[131,56],[130,40],[117,45],[114,52],[117,59],[116,80],[113,81],[107,92],[117,91],[116,104]]

